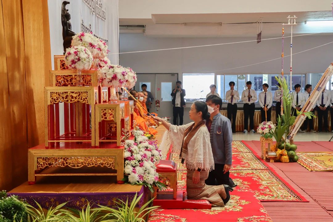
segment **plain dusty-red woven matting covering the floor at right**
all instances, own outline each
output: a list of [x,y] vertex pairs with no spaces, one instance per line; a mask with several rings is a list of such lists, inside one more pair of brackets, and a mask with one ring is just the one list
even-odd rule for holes
[[[260,141],[245,141],[257,153],[260,152]],[[314,142],[295,142],[308,143],[309,146],[316,146],[318,151],[328,151],[325,147],[319,147]],[[308,151],[311,147],[304,147]],[[299,148],[298,148],[299,149]],[[297,151],[298,151],[297,149]],[[305,151],[300,150],[300,151]],[[288,182],[296,191],[309,200],[306,202],[262,202],[273,221],[290,222],[333,222],[333,184],[332,172],[310,172],[298,163],[269,163],[267,164],[275,170],[280,178]],[[280,212],[292,212],[292,216],[286,217]],[[330,213],[332,215],[330,215]]]

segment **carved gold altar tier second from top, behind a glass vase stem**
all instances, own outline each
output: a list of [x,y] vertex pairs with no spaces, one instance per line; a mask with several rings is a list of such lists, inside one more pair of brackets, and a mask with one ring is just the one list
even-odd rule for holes
[[[60,82],[64,82],[67,86],[75,86],[76,70],[50,70],[50,86],[63,87]],[[98,86],[98,71],[87,70],[82,71],[82,79],[84,86]],[[66,87],[66,86],[64,86]]]

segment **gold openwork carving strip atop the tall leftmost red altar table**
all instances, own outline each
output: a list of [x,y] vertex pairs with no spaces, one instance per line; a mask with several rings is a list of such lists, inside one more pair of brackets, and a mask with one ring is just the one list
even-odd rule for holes
[[88,92],[51,92],[51,105],[59,102],[88,104]]

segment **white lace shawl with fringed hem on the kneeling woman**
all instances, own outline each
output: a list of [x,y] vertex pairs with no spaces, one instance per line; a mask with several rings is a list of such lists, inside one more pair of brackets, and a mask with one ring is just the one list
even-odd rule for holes
[[[164,159],[171,144],[172,152],[177,157],[179,156],[184,132],[191,124],[193,122],[181,126],[170,125],[170,129],[165,132],[160,145]],[[203,170],[214,169],[214,158],[210,145],[209,132],[205,125],[201,126],[188,142],[185,162],[189,170],[196,168]]]

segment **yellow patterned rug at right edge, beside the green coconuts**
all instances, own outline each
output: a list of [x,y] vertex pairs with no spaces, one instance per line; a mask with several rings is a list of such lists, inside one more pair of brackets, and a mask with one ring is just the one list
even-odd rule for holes
[[309,171],[333,171],[333,152],[297,152],[298,163]]

